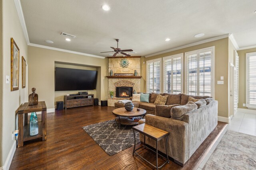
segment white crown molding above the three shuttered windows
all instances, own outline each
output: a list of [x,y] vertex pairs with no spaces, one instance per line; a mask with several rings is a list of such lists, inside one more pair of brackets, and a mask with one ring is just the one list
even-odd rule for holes
[[213,37],[213,38],[210,38],[210,39],[205,39],[205,40],[202,40],[202,41],[198,41],[196,43],[191,43],[191,44],[188,44],[188,45],[183,45],[183,46],[180,46],[180,47],[176,47],[174,49],[169,49],[169,50],[166,50],[166,51],[161,51],[159,53],[154,53],[154,54],[150,54],[150,55],[146,55],[145,57],[152,57],[154,55],[160,55],[160,54],[164,54],[164,53],[168,53],[168,52],[171,52],[171,51],[175,51],[175,50],[179,50],[179,49],[184,49],[184,48],[187,48],[187,47],[192,47],[192,46],[195,46],[195,45],[199,45],[199,44],[203,44],[203,43],[208,43],[208,42],[211,42],[211,41],[216,41],[218,39],[223,39],[223,38],[227,38],[229,36],[229,34],[224,34],[224,35],[220,35],[218,37]]

